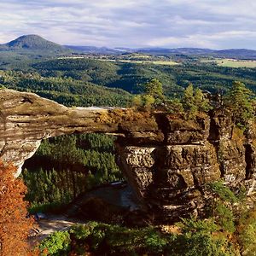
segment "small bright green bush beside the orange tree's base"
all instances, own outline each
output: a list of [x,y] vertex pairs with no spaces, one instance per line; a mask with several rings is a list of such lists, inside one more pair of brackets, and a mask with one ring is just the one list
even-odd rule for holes
[[[70,241],[70,235],[67,231],[56,231],[41,241],[39,249],[43,255],[67,255],[70,250]],[[47,249],[47,254],[43,253],[44,249]]]

